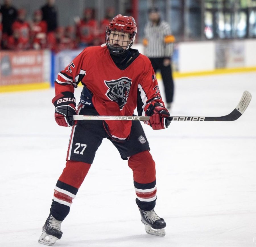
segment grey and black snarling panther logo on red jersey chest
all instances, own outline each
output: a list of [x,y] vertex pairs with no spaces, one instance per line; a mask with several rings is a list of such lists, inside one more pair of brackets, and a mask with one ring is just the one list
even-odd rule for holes
[[119,108],[122,110],[127,102],[127,97],[131,88],[131,79],[122,77],[116,80],[104,81],[106,86],[109,88],[106,92],[106,96],[118,103]]

